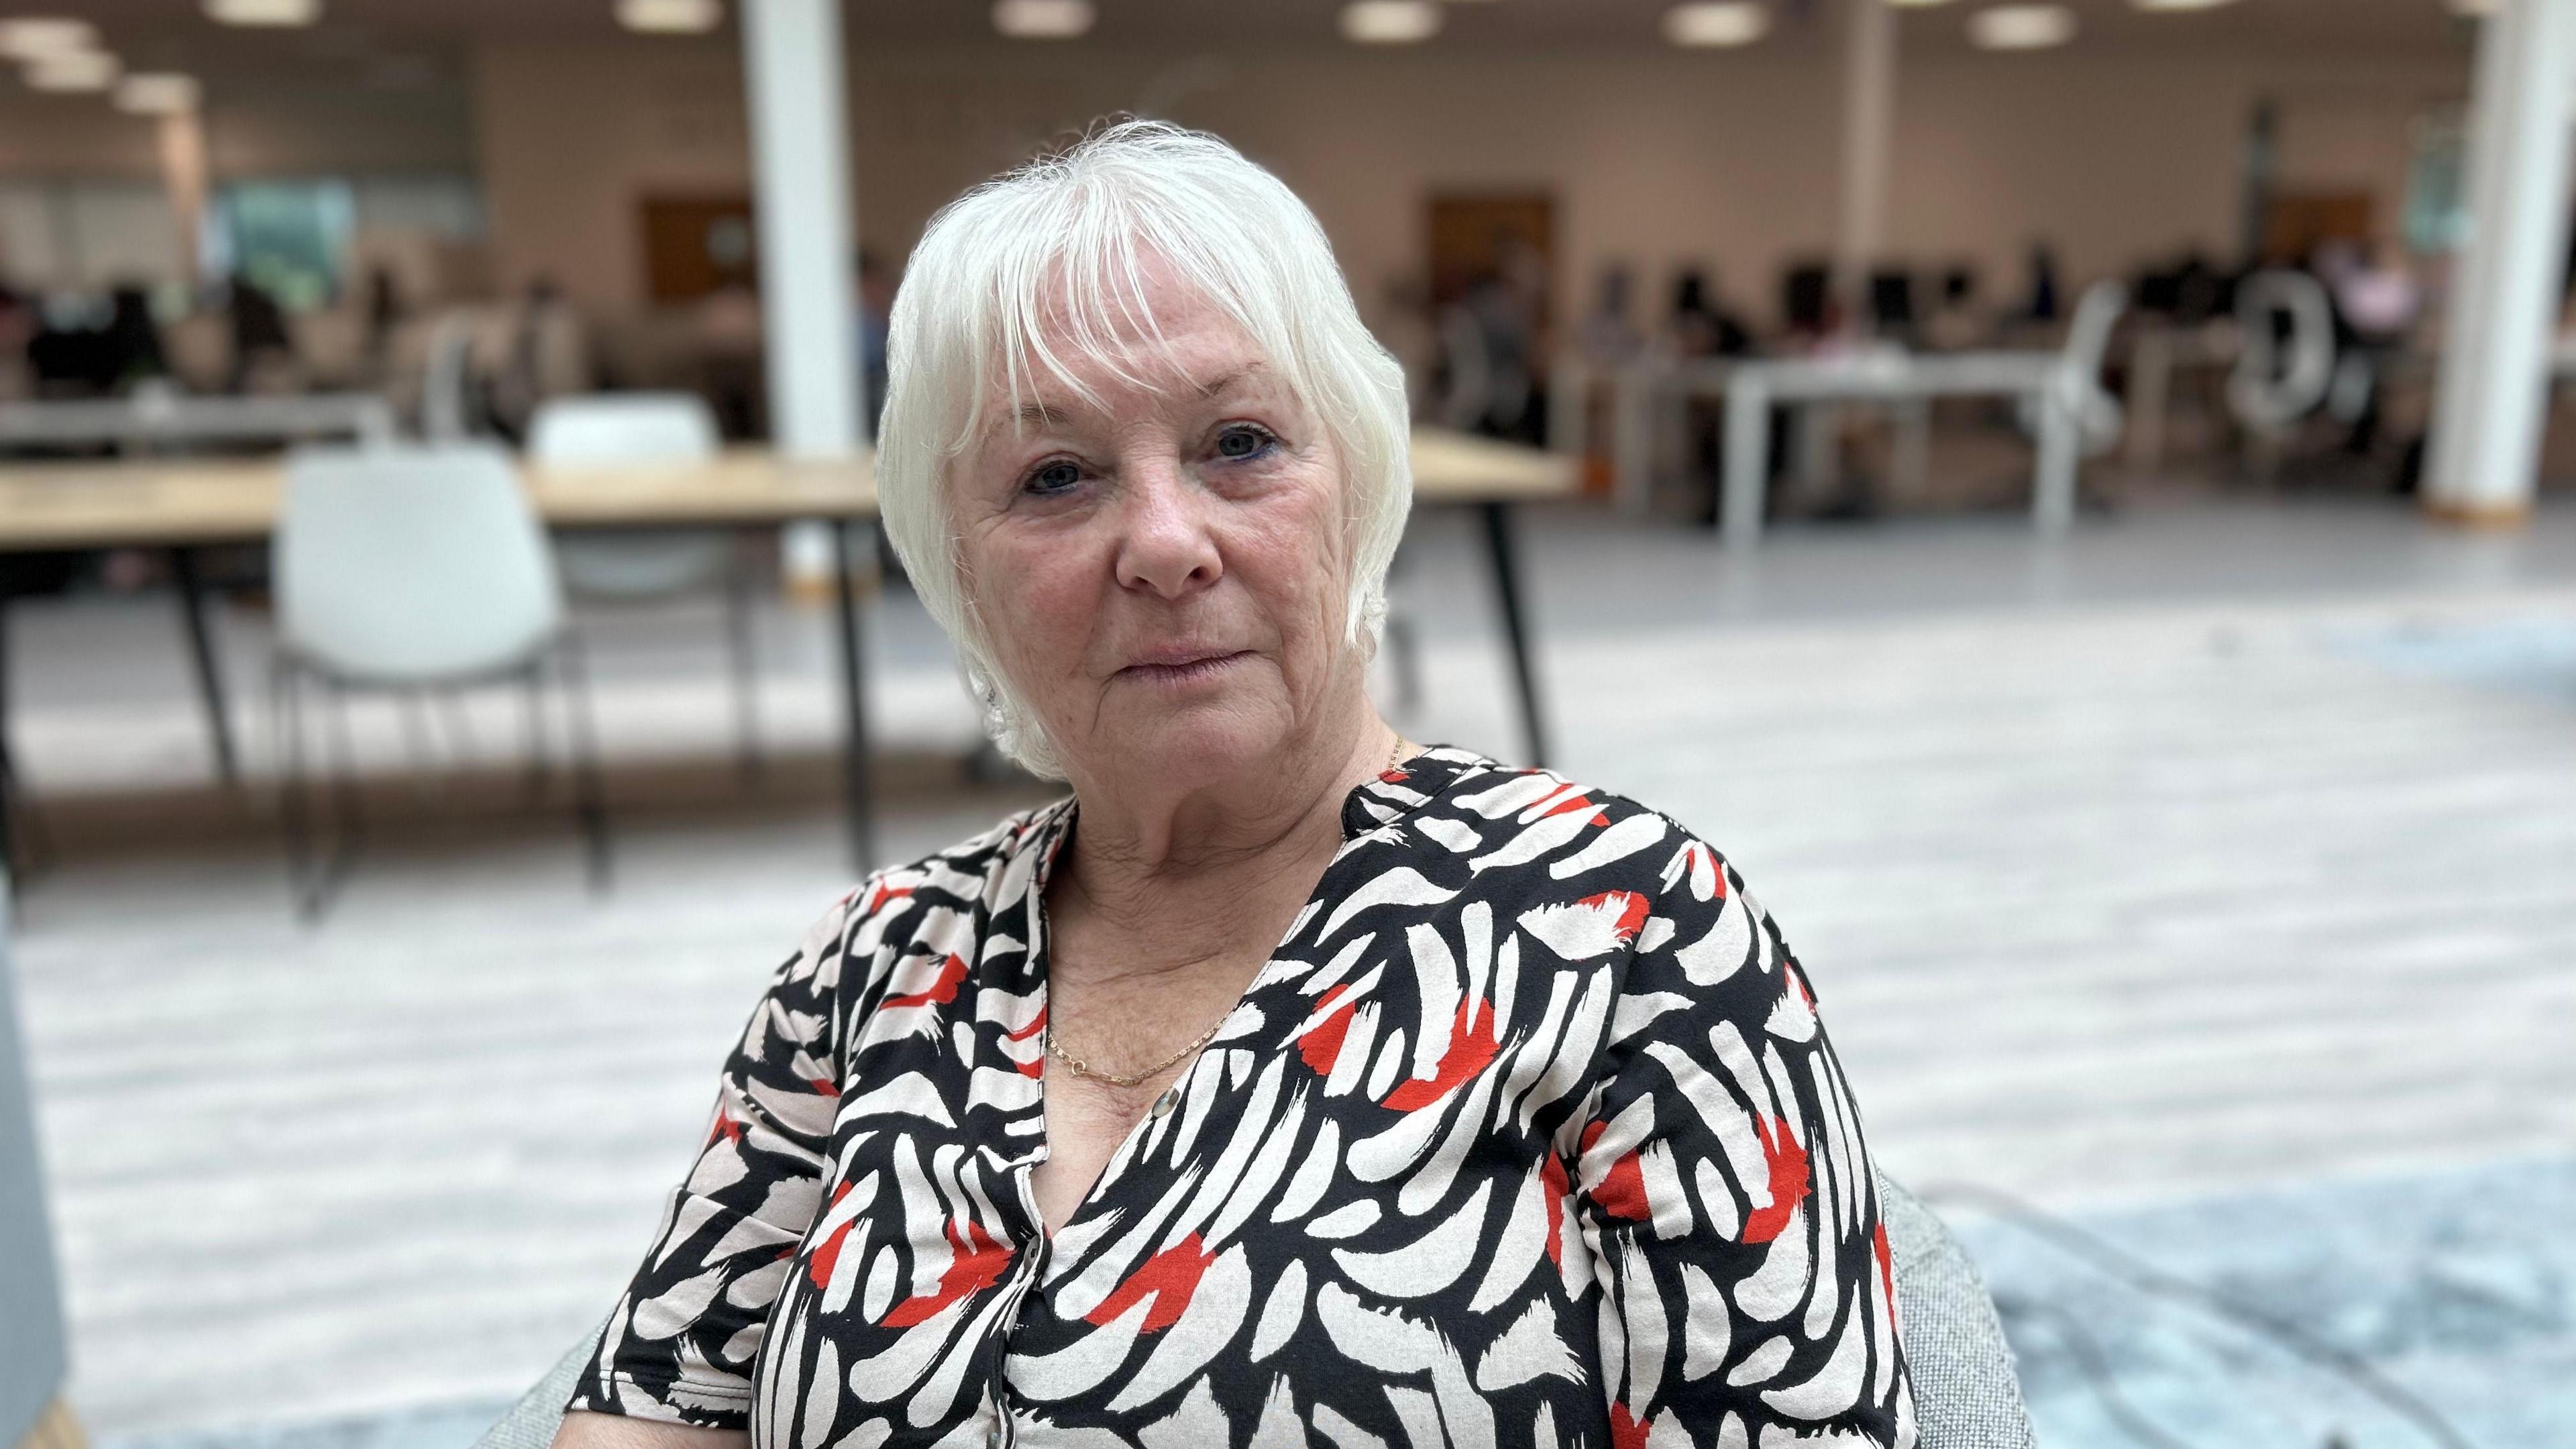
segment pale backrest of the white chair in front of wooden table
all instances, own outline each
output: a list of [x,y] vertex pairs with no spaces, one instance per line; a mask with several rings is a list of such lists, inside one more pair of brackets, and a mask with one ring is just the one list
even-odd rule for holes
[[546,531],[492,446],[301,451],[273,549],[281,645],[350,681],[505,670],[564,619]]

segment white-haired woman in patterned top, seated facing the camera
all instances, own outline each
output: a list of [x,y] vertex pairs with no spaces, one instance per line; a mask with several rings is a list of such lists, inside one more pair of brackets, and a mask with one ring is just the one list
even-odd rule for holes
[[1072,797],[778,967],[559,1446],[1909,1444],[1741,877],[1368,701],[1406,407],[1306,206],[1105,129],[930,224],[889,371],[886,529]]

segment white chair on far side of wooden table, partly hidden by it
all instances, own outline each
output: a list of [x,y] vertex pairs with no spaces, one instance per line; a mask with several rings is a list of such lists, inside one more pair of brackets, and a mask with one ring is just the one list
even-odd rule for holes
[[[714,456],[716,413],[693,392],[592,392],[546,400],[528,425],[541,464],[675,464]],[[726,529],[649,529],[567,536],[554,547],[564,588],[595,603],[641,603],[724,590],[742,773],[760,771],[760,696],[752,652],[752,575]]]

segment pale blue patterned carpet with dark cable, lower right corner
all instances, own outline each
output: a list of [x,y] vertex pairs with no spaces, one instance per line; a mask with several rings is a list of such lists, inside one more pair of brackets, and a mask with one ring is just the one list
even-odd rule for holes
[[2190,1294],[2146,1292],[2014,1220],[1940,1207],[2007,1310],[2048,1449],[2576,1446],[2576,1158],[2081,1220],[2347,1366]]

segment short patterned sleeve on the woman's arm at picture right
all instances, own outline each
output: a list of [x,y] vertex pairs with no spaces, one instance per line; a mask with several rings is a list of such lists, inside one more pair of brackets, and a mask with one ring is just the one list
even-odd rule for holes
[[1613,1444],[1909,1449],[1878,1183],[1806,972],[1708,843],[1664,841],[1569,1124]]

